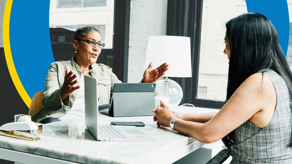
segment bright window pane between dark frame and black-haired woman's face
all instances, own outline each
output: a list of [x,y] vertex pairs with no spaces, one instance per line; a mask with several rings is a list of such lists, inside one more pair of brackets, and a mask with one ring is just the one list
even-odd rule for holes
[[228,59],[223,53],[225,23],[243,13],[247,13],[243,0],[203,1],[198,98],[226,99]]

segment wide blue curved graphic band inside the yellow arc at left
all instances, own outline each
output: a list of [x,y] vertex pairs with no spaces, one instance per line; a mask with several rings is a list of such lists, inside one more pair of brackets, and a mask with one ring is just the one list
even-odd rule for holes
[[49,8],[49,0],[13,1],[11,7],[11,54],[19,79],[30,98],[44,90],[49,64],[54,62]]

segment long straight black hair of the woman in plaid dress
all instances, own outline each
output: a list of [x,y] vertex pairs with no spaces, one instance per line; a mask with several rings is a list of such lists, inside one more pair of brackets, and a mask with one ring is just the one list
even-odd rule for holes
[[[248,76],[268,69],[284,79],[292,97],[291,70],[269,19],[259,13],[239,15],[226,23],[226,36],[230,44],[226,101]],[[223,142],[225,146],[231,146],[231,133],[223,138]]]

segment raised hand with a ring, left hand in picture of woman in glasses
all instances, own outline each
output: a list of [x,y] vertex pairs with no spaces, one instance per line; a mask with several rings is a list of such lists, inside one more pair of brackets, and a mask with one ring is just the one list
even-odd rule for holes
[[64,77],[64,83],[63,83],[63,86],[61,88],[62,101],[64,101],[65,98],[70,93],[74,92],[74,90],[77,90],[80,88],[80,86],[74,86],[78,82],[77,79],[74,80],[76,77],[77,77],[76,74],[73,74],[73,71],[72,70],[70,71],[70,68],[68,66],[66,66],[66,74]]

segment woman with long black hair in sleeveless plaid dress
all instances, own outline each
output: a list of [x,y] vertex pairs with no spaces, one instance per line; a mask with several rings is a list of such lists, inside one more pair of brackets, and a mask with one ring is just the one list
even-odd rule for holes
[[218,113],[180,114],[163,102],[157,126],[200,142],[223,139],[208,163],[292,163],[292,74],[277,31],[265,16],[247,13],[226,23],[229,59],[226,103]]

